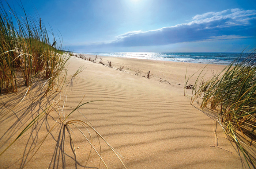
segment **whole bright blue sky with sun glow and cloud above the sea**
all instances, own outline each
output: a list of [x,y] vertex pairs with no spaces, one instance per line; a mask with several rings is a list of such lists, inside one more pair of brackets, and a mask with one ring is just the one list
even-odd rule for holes
[[[18,3],[17,3],[18,2]],[[242,52],[256,48],[255,0],[21,0],[77,52]],[[19,1],[8,0],[21,12]]]

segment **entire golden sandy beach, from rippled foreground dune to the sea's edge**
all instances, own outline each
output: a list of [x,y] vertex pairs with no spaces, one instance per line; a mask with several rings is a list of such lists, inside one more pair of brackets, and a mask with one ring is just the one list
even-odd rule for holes
[[[95,58],[93,55],[85,56]],[[100,58],[103,63],[111,61],[113,68],[99,64]],[[59,107],[65,106],[64,114],[72,112],[80,101],[96,101],[78,110],[108,144],[124,157],[120,158],[127,168],[242,168],[238,150],[226,139],[221,126],[215,122],[216,115],[204,113],[195,103],[191,105],[191,90],[187,90],[184,96],[186,69],[187,76],[197,72],[188,82],[193,84],[200,73],[198,70],[206,64],[107,56],[98,56],[95,62],[71,56],[67,66],[67,83],[61,94],[57,92],[52,95],[56,96],[56,100],[65,100],[59,102]],[[71,76],[80,66],[85,69],[72,79],[71,85]],[[116,70],[123,66],[124,71]],[[225,65],[208,64],[203,70],[204,78],[212,77],[223,68]],[[149,79],[143,77],[148,71],[151,75]],[[42,83],[38,82],[38,88],[40,85]],[[38,90],[31,90],[22,104],[7,111],[23,98],[26,87],[20,90],[24,92],[0,96],[0,111],[8,112],[1,117],[1,151],[30,122],[26,113],[40,113],[45,103],[54,101],[50,96],[40,101],[34,99],[36,104],[31,106],[29,103],[32,95],[40,95]],[[68,120],[86,121],[82,114],[75,111]],[[49,113],[44,121],[39,119],[37,129],[31,127],[33,131],[20,137],[4,152],[0,158],[0,168],[22,168],[32,156],[25,168],[105,168],[102,162],[99,165],[100,159],[94,150],[91,150],[89,157],[91,146],[75,125],[69,131],[61,124],[54,126],[60,116]],[[13,125],[15,127],[11,129]],[[90,140],[85,127],[80,125],[80,128]],[[91,129],[88,130],[93,146],[99,151],[97,135]],[[48,131],[50,134],[45,137]],[[101,156],[108,168],[124,168],[110,147],[101,138],[99,140]],[[72,142],[76,156],[71,148]],[[41,147],[37,151],[38,144]],[[29,155],[24,157],[28,152]]]

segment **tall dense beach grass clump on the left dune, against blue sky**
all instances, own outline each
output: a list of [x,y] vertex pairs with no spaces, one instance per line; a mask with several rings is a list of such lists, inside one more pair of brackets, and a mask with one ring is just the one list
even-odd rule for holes
[[41,18],[25,12],[21,17],[2,2],[0,6],[0,93],[16,92],[18,85],[31,86],[37,76],[48,79],[47,93],[68,60],[61,56],[61,44],[57,47],[54,35],[51,43]]

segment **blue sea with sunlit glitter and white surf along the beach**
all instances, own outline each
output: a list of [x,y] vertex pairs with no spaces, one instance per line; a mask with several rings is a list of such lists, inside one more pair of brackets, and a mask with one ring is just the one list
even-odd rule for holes
[[[241,53],[156,53],[156,52],[84,52],[83,54],[114,56],[124,58],[167,60],[174,62],[209,63],[209,64],[229,64],[234,59],[241,56]],[[242,54],[241,59],[248,54]]]

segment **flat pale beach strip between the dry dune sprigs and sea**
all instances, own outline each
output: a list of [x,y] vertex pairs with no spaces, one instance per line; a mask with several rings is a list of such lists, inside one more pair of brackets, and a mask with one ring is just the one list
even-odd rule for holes
[[[96,55],[83,54],[87,58],[95,59]],[[79,54],[77,54],[79,57]],[[191,62],[173,62],[166,60],[150,60],[150,59],[137,59],[137,58],[123,58],[114,56],[101,56],[98,55],[98,61],[101,60],[103,63],[111,61],[115,69],[123,67],[124,71],[135,75],[140,72],[141,76],[145,75],[148,71],[151,71],[151,79],[159,81],[161,79],[168,80],[169,82],[182,84],[184,87],[185,72],[187,69],[187,77],[192,75],[189,82],[193,83],[197,76],[200,74],[199,70],[203,70],[206,73],[205,78],[209,79],[213,73],[216,74],[221,72],[226,65],[222,64],[206,64],[206,63],[191,63]],[[96,62],[98,63],[98,62]],[[150,65],[150,66],[145,66]]]

